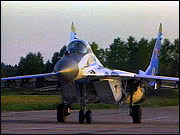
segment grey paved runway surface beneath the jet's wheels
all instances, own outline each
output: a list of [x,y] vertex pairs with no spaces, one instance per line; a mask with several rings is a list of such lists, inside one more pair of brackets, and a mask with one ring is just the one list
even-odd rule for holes
[[142,123],[132,124],[129,108],[93,110],[93,124],[79,124],[78,110],[66,123],[56,110],[1,113],[1,134],[179,134],[179,107],[143,107]]

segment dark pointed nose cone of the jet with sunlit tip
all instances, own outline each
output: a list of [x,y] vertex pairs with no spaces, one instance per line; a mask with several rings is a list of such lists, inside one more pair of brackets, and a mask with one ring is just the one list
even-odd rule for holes
[[64,56],[56,63],[54,71],[60,72],[64,80],[71,81],[79,72],[78,63],[74,59]]

